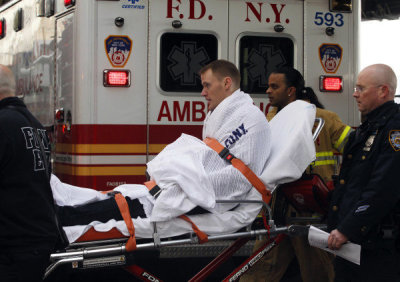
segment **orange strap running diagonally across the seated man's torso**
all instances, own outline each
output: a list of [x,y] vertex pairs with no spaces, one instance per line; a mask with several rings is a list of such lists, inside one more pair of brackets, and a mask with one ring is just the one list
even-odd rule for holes
[[257,175],[242,162],[240,159],[236,158],[234,155],[229,153],[229,150],[222,146],[216,139],[207,137],[203,142],[217,152],[221,158],[230,162],[233,167],[238,169],[244,177],[260,192],[262,199],[265,203],[269,204],[271,201],[271,192],[265,187],[264,183],[257,177]]

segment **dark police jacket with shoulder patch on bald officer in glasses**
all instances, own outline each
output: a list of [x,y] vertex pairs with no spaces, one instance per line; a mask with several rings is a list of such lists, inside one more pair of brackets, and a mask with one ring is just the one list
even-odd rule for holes
[[[393,238],[400,199],[400,112],[387,102],[349,137],[332,195],[328,229],[364,247]],[[387,229],[387,230],[386,230]],[[394,237],[397,235],[395,234]]]

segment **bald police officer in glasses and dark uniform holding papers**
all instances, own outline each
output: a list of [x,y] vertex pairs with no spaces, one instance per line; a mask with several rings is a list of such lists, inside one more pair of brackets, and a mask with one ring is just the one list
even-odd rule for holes
[[353,97],[365,118],[344,149],[328,246],[361,244],[361,263],[335,259],[336,281],[400,281],[400,111],[397,79],[382,64],[360,72]]

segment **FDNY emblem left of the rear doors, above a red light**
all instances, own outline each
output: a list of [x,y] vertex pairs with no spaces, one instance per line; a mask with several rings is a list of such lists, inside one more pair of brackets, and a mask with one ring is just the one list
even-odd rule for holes
[[104,40],[107,58],[113,67],[122,68],[131,55],[132,40],[124,35],[110,35]]

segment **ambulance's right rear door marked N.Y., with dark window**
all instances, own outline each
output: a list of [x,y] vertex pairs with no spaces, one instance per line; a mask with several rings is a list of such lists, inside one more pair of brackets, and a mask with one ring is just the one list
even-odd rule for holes
[[229,59],[239,67],[242,91],[268,112],[268,75],[289,65],[303,71],[304,1],[229,1]]

